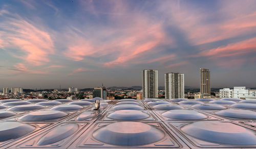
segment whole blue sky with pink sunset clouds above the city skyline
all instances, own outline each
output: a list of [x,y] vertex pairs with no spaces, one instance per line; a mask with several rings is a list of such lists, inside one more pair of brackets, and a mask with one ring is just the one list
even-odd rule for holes
[[0,1],[0,87],[256,87],[256,1]]

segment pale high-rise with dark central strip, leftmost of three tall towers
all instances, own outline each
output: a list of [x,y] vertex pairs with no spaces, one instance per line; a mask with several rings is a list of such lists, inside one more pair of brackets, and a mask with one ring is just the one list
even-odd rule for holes
[[145,98],[158,97],[158,71],[142,70],[142,95]]

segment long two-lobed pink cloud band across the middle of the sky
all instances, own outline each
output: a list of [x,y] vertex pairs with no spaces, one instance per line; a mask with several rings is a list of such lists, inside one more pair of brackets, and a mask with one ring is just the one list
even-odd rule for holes
[[[150,51],[158,44],[164,42],[164,33],[160,24],[148,26],[144,19],[139,19],[138,22],[138,25],[135,25],[133,28],[122,30],[120,32],[122,35],[120,38],[116,37],[114,40],[104,42],[100,45],[95,43],[97,42],[95,38],[87,40],[75,33],[71,33],[69,37],[75,38],[76,41],[68,45],[69,48],[67,51],[63,52],[63,55],[71,60],[81,61],[87,56],[99,57],[116,53],[118,54],[117,58],[104,63],[104,65],[114,66],[123,65],[124,63],[127,64],[127,62],[138,57],[141,53]],[[147,26],[146,29],[145,26]],[[111,36],[111,34],[114,34],[115,30],[112,32],[104,32],[104,35],[99,34],[97,36]],[[98,38],[97,36],[96,38]],[[169,42],[170,41],[172,40],[169,40]]]

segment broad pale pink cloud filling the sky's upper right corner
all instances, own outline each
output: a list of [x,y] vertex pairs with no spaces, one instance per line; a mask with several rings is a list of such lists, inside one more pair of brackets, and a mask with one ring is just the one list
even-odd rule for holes
[[[176,24],[184,31],[188,42],[193,45],[224,40],[248,33],[256,33],[256,12],[250,3],[236,1],[220,1],[216,14],[202,12],[202,9],[182,3],[178,4],[164,1],[159,7],[164,15],[168,16],[167,22]],[[252,8],[252,9],[248,9]],[[247,10],[248,9],[248,10]],[[210,17],[222,15],[219,21],[208,21]]]

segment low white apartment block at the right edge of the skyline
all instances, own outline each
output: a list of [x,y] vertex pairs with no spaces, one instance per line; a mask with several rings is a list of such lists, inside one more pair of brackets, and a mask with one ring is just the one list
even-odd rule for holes
[[256,90],[246,89],[246,87],[234,87],[234,89],[223,88],[220,89],[220,98],[250,98],[256,97]]

